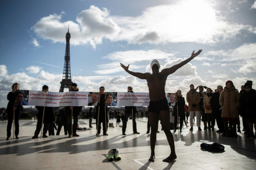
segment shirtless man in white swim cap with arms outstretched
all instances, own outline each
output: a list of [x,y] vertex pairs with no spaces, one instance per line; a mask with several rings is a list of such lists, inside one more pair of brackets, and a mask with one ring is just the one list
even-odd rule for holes
[[138,77],[140,79],[147,80],[147,86],[149,87],[149,117],[150,117],[150,148],[151,148],[151,156],[149,161],[154,162],[155,160],[155,142],[157,140],[157,130],[158,130],[158,121],[159,116],[161,116],[161,124],[162,129],[165,132],[167,137],[167,141],[171,148],[170,156],[163,160],[163,162],[171,162],[174,161],[177,156],[175,153],[175,146],[174,146],[174,138],[170,132],[170,113],[169,113],[169,106],[168,101],[165,96],[165,84],[166,79],[170,74],[173,74],[178,68],[181,68],[186,63],[191,61],[194,57],[198,56],[202,50],[191,54],[191,57],[182,61],[181,63],[174,65],[173,67],[163,69],[159,73],[160,64],[158,60],[153,60],[151,62],[152,74],[151,73],[135,73],[133,71],[128,70],[129,65],[125,66],[120,63],[121,67],[125,69],[127,73]]

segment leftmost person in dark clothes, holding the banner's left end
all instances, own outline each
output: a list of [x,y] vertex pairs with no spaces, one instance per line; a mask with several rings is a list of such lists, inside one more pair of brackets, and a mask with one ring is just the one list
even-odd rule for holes
[[8,124],[7,124],[7,138],[6,140],[10,139],[11,136],[11,124],[13,124],[13,108],[14,108],[14,102],[15,102],[15,92],[19,90],[19,84],[14,83],[11,86],[12,91],[7,94],[7,100],[9,100],[7,104],[6,113],[8,116]]

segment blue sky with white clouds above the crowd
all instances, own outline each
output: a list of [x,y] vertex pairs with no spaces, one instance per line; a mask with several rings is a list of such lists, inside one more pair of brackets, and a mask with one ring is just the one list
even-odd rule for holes
[[[145,80],[121,67],[151,72],[200,56],[168,77],[166,92],[189,85],[215,89],[231,79],[236,88],[256,83],[254,0],[3,0],[0,9],[0,107],[11,85],[58,92],[69,25],[71,76],[80,91],[148,92]],[[253,86],[253,88],[256,88]],[[66,89],[67,91],[67,89]]]

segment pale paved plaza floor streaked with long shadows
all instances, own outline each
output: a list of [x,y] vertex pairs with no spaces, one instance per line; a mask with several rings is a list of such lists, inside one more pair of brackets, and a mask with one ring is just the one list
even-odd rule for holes
[[[0,121],[0,169],[256,169],[256,139],[247,138],[243,132],[238,133],[238,137],[223,137],[216,133],[217,126],[215,131],[198,131],[196,126],[193,131],[185,126],[182,132],[171,130],[177,159],[167,163],[162,160],[170,154],[170,148],[159,123],[155,162],[149,162],[147,119],[136,120],[140,134],[134,135],[132,121],[128,120],[126,136],[115,121],[110,120],[114,128],[108,128],[108,136],[101,132],[96,137],[96,125],[89,129],[89,119],[80,119],[79,126],[87,128],[77,131],[80,137],[67,138],[62,129],[59,136],[32,139],[37,121],[20,120],[20,139],[13,139],[12,129],[9,141],[6,141],[7,121]],[[200,148],[201,143],[214,142],[224,145],[225,152],[214,153]],[[107,160],[107,152],[112,148],[117,148],[121,160]]]

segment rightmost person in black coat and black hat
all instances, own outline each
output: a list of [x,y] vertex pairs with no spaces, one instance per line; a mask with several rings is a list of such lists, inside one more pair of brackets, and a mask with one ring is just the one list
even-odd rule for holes
[[247,82],[244,85],[245,91],[241,93],[240,109],[243,121],[248,123],[249,135],[246,137],[255,137],[253,134],[253,125],[256,130],[256,115],[254,105],[256,103],[256,91],[252,89],[252,84]]

